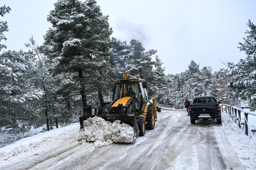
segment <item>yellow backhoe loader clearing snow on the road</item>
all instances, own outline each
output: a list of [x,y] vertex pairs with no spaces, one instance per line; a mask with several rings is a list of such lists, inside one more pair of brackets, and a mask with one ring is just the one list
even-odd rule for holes
[[102,115],[92,114],[92,108],[87,107],[87,115],[79,117],[80,126],[83,128],[84,120],[90,117],[101,117],[105,121],[120,120],[134,128],[134,136],[145,135],[145,130],[153,130],[157,121],[156,99],[152,103],[148,98],[148,83],[141,78],[134,78],[125,72],[121,80],[114,81],[112,102],[102,112]]

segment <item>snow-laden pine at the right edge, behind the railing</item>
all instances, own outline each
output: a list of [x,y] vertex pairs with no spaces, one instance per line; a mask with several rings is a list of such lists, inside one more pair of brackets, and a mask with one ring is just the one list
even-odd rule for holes
[[228,98],[249,98],[251,101],[251,110],[256,110],[256,101],[254,96],[256,95],[256,25],[250,20],[247,23],[250,30],[246,31],[246,37],[243,38],[243,43],[239,43],[240,51],[245,52],[246,58],[240,59],[235,64],[233,62],[227,62],[227,69],[225,70],[230,78],[230,82],[227,86],[231,89],[231,93]]

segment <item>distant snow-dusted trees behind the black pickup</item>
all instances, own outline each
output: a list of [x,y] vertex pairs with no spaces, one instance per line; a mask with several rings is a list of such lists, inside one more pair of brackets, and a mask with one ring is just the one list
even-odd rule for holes
[[163,88],[159,92],[157,99],[168,105],[176,105],[190,101],[195,96],[215,95],[218,98],[217,79],[212,73],[211,67],[204,66],[199,69],[199,64],[191,61],[188,70],[176,75],[169,75],[170,81],[167,83],[169,89]]

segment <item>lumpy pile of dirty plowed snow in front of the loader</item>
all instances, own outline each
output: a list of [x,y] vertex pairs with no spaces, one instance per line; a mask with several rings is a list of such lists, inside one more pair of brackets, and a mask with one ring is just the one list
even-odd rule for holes
[[120,124],[119,120],[111,123],[97,116],[87,118],[79,134],[79,140],[93,141],[95,147],[110,145],[113,142],[130,143],[136,139],[133,128],[128,124]]

